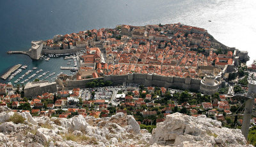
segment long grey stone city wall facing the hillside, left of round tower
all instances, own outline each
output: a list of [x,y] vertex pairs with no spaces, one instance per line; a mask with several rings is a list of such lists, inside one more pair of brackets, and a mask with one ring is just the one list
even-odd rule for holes
[[85,80],[68,80],[63,82],[67,89],[86,88],[86,83],[93,80],[112,81],[113,85],[123,85],[123,83],[138,83],[146,87],[166,87],[180,88],[184,90],[200,91],[201,80],[193,78],[180,78],[176,76],[160,76],[156,74],[127,74],[109,75],[104,78],[91,78]]

